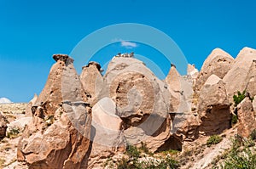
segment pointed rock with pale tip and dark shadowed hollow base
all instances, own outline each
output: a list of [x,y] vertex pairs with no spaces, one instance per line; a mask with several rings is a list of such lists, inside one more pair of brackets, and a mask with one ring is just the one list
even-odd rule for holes
[[218,76],[210,76],[201,88],[198,113],[200,135],[219,134],[230,128],[230,103],[224,82]]

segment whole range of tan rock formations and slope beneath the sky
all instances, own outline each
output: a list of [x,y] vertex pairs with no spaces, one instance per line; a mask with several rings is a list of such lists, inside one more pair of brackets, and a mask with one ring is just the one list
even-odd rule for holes
[[[236,59],[214,49],[199,72],[188,65],[181,76],[172,65],[163,81],[133,55],[124,56],[113,57],[104,76],[96,62],[79,76],[72,58],[55,54],[42,93],[21,110],[0,105],[1,144],[17,146],[17,161],[6,153],[12,162],[3,166],[108,168],[106,161],[127,158],[132,145],[151,152],[139,161],[159,161],[172,149],[181,168],[210,168],[222,148],[230,149],[230,137],[248,138],[256,129],[254,49],[243,48]],[[234,103],[243,90],[243,100]],[[4,138],[17,128],[22,133]],[[208,148],[212,135],[223,141]]]

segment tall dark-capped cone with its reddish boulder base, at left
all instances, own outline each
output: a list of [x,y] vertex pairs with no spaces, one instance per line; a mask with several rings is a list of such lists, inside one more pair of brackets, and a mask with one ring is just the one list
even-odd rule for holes
[[45,87],[32,107],[17,149],[17,160],[29,168],[80,168],[90,147],[90,107],[73,59],[54,55]]

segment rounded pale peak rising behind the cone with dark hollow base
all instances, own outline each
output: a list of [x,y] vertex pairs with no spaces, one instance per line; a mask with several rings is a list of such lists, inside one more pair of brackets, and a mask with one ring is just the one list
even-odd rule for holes
[[215,48],[212,53],[207,57],[201,67],[199,76],[197,77],[195,89],[200,91],[201,87],[207,81],[207,78],[212,74],[219,78],[224,78],[233,65],[234,59],[230,54],[224,52],[220,48]]

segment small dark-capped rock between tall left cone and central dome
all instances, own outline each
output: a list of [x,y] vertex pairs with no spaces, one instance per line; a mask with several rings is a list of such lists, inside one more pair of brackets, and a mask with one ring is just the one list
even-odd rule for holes
[[105,87],[101,74],[101,65],[96,62],[90,62],[83,67],[80,80],[84,87],[84,92],[88,102],[93,106],[100,99],[100,93]]

